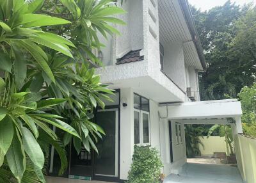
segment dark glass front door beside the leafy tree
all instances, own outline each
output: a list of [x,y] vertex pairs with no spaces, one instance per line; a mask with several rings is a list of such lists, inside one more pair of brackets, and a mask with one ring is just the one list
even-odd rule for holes
[[98,110],[96,123],[106,133],[99,139],[95,153],[94,175],[118,177],[118,109]]

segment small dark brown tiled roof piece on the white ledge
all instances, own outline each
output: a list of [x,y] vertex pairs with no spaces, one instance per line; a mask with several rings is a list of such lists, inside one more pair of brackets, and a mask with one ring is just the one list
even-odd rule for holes
[[140,56],[140,51],[141,49],[128,52],[122,58],[116,60],[116,65],[144,60],[144,56]]

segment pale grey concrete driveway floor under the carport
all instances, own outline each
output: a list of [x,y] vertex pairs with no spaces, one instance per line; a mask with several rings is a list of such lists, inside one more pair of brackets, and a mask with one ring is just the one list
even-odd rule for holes
[[236,167],[227,164],[187,163],[179,175],[169,175],[164,183],[243,183]]

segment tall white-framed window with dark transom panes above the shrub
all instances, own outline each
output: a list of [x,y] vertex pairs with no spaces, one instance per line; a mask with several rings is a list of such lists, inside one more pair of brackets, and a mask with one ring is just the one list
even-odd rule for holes
[[134,144],[150,144],[149,100],[134,93]]

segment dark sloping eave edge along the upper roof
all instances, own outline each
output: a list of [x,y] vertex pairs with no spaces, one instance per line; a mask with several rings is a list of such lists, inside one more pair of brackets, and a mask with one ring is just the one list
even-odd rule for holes
[[205,57],[204,57],[204,50],[202,48],[200,38],[199,38],[198,33],[196,31],[195,22],[193,20],[193,16],[192,16],[192,13],[191,13],[190,8],[189,8],[188,0],[178,0],[178,1],[179,1],[179,4],[180,4],[180,7],[182,9],[182,12],[184,13],[184,17],[185,17],[186,22],[188,24],[189,31],[190,31],[191,36],[193,38],[193,42],[196,46],[196,51],[198,53],[201,65],[204,69],[203,71],[205,71],[207,69],[207,65],[206,65]]

